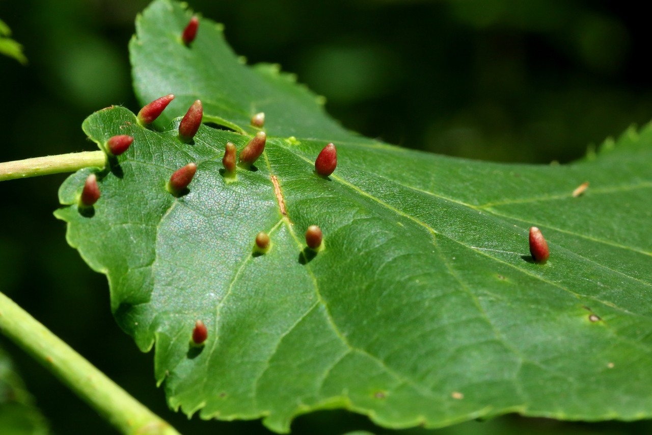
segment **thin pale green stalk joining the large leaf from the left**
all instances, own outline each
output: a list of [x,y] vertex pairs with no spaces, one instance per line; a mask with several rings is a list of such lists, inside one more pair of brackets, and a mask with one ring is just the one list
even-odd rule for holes
[[106,166],[106,153],[85,151],[0,163],[0,181],[59,174],[59,172],[75,172],[90,166],[98,168]]

